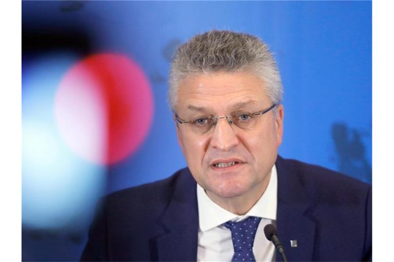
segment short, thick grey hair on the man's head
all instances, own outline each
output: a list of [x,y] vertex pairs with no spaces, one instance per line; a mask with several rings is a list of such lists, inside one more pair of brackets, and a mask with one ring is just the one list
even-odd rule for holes
[[275,104],[282,102],[282,81],[268,46],[258,37],[212,30],[194,35],[178,47],[171,63],[168,102],[175,112],[179,83],[188,76],[219,72],[247,72],[260,76]]

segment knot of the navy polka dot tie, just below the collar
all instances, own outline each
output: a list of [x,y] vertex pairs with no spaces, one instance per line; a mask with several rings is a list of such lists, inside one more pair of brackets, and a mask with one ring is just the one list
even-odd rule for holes
[[259,227],[260,220],[261,217],[249,216],[244,221],[228,221],[223,224],[223,226],[231,230],[232,244],[235,252],[253,247],[254,236]]

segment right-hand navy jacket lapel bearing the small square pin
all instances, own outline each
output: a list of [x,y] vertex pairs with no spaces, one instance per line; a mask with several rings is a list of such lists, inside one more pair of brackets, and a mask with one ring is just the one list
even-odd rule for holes
[[[297,176],[297,170],[286,166],[278,156],[275,163],[278,172],[277,227],[287,260],[312,261],[315,241],[315,223],[309,213],[306,189]],[[297,247],[290,241],[297,240]],[[283,261],[280,254],[277,260]]]

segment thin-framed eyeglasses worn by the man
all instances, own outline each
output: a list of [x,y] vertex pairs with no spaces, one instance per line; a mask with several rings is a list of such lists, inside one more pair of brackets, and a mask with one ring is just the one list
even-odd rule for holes
[[178,121],[180,124],[186,124],[188,123],[188,127],[191,129],[191,131],[194,134],[197,135],[203,135],[207,133],[213,126],[216,125],[219,119],[227,119],[227,122],[232,125],[235,124],[239,128],[243,130],[250,130],[254,127],[254,125],[257,123],[257,116],[264,115],[265,113],[269,112],[273,107],[275,107],[277,104],[271,105],[269,108],[259,111],[259,112],[254,112],[254,113],[249,113],[249,112],[234,112],[230,114],[229,116],[223,116],[223,117],[215,117],[214,115],[204,115],[204,116],[198,116],[195,117],[191,120],[185,121],[179,118],[178,115],[175,114],[175,119]]

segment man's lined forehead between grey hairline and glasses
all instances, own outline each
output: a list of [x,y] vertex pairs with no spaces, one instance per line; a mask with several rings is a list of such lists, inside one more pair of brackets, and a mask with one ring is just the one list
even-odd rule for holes
[[269,106],[264,81],[247,73],[200,74],[185,78],[178,89],[177,112],[212,112]]

